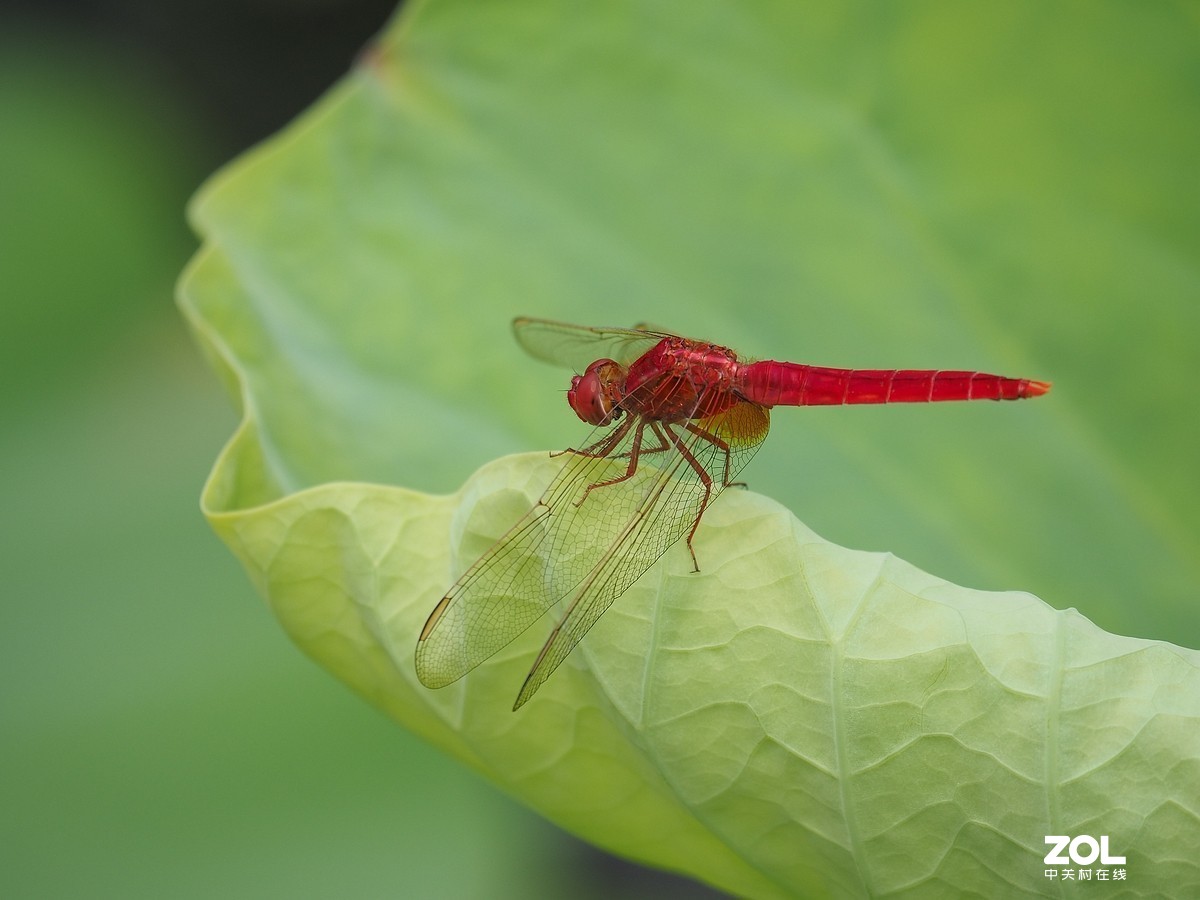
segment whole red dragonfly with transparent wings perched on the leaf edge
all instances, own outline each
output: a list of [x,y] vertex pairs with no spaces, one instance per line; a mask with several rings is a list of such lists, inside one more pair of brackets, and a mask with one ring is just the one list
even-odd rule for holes
[[744,361],[715,343],[648,328],[512,323],[532,355],[574,368],[568,402],[595,426],[541,499],[433,608],[416,642],[427,688],[458,680],[560,604],[517,694],[518,709],[767,437],[770,407],[1020,400],[1046,382],[983,372],[828,368]]

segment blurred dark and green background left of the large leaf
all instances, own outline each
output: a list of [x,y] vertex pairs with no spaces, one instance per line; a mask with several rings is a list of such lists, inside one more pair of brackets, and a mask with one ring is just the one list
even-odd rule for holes
[[0,896],[696,895],[336,683],[200,516],[184,206],[394,4],[44,8],[0,7]]

